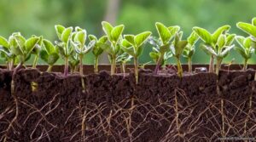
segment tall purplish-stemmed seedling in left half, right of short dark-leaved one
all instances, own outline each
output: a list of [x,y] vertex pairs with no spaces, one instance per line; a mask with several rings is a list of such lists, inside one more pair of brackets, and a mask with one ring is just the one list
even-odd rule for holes
[[67,27],[61,25],[55,26],[55,31],[61,43],[56,42],[57,48],[61,54],[61,57],[65,60],[64,75],[68,73],[68,58],[73,53],[73,48],[70,46],[70,38],[72,37],[73,27]]

